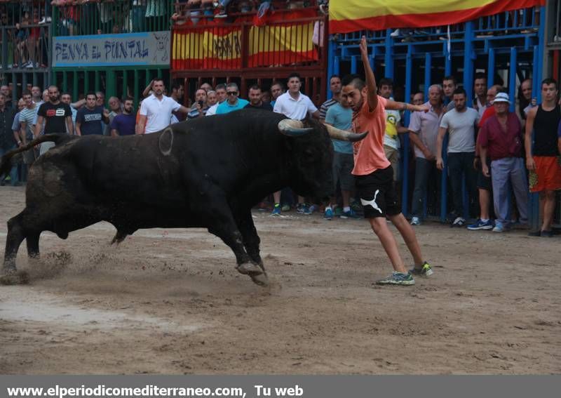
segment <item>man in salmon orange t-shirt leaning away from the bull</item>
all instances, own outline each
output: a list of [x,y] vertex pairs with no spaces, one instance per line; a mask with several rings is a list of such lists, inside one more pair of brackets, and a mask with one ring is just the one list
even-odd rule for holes
[[[353,131],[368,131],[362,142],[353,145],[356,188],[363,204],[365,218],[381,245],[388,254],[393,273],[377,284],[412,285],[412,274],[430,276],[431,265],[423,261],[421,248],[411,225],[400,211],[398,197],[393,187],[393,170],[384,153],[384,133],[386,131],[387,110],[428,111],[426,105],[411,105],[395,102],[377,95],[376,80],[370,68],[366,38],[360,40],[360,55],[366,75],[365,82],[357,76],[347,76],[343,80],[342,101],[353,110]],[[411,252],[414,267],[409,272],[398,251],[398,244],[386,224],[386,216],[400,232]]]

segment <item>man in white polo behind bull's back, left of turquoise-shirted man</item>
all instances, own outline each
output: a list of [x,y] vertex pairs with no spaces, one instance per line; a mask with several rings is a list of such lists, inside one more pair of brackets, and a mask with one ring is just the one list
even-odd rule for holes
[[156,131],[168,127],[172,112],[189,113],[187,107],[180,105],[173,98],[163,95],[164,89],[162,79],[152,81],[153,93],[140,105],[140,117],[136,125],[137,134],[156,133]]

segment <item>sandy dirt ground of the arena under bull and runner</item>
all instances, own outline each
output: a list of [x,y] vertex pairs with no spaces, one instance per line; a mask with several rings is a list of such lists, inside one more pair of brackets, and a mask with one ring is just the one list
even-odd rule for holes
[[[0,189],[3,247],[24,196]],[[0,286],[0,373],[561,372],[559,237],[428,223],[433,277],[379,287],[390,266],[365,220],[254,218],[267,288],[205,230],[120,246],[107,223],[44,232],[33,263],[22,244],[31,282]]]

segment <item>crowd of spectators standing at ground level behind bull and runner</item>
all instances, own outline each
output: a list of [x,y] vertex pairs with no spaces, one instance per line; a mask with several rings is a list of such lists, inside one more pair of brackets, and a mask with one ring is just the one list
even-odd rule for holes
[[[247,99],[234,82],[212,87],[205,83],[187,100],[184,86],[173,82],[167,91],[162,79],[154,79],[144,90],[144,99],[135,109],[131,97],[107,99],[104,93],[86,93],[73,102],[72,95],[60,93],[56,86],[33,86],[22,98],[11,98],[11,87],[0,88],[0,153],[26,145],[42,133],[76,135],[149,134],[170,124],[244,108],[257,108],[284,114],[291,119],[313,117],[337,128],[350,130],[353,112],[342,98],[342,79],[330,78],[332,96],[318,109],[301,90],[297,73],[284,81],[273,81],[270,90],[258,85],[248,88]],[[393,100],[393,81],[380,79],[379,96]],[[557,82],[541,82],[542,102],[532,98],[532,81],[522,81],[518,88],[516,111],[513,99],[502,86],[487,86],[485,74],[476,74],[473,102],[468,103],[466,87],[453,76],[442,84],[428,88],[428,98],[414,93],[411,103],[426,111],[412,112],[409,126],[404,126],[403,112],[386,110],[384,152],[393,166],[393,180],[398,184],[403,173],[414,181],[411,198],[412,225],[421,225],[425,214],[438,213],[441,183],[447,181],[450,212],[447,219],[456,227],[468,230],[504,232],[514,225],[527,225],[528,193],[538,192],[543,214],[540,230],[532,236],[552,236],[555,192],[561,190],[561,107]],[[82,96],[81,96],[82,97]],[[14,102],[15,101],[15,102]],[[12,103],[17,105],[13,109]],[[185,103],[185,105],[183,105]],[[413,107],[416,109],[417,107]],[[403,137],[409,135],[414,165],[401,170]],[[447,145],[445,145],[447,139]],[[25,152],[22,164],[15,166],[6,179],[11,185],[25,181],[27,168],[37,156],[46,152],[50,142],[38,151]],[[333,140],[332,197],[323,204],[310,204],[304,197],[293,197],[290,190],[272,195],[273,215],[295,207],[299,213],[323,211],[325,219],[356,218],[360,206],[356,201],[353,170],[353,146]],[[409,156],[405,154],[405,156]],[[446,172],[445,178],[442,173]],[[2,181],[4,185],[5,181]],[[260,208],[266,208],[266,199]],[[469,218],[473,222],[468,223]]]

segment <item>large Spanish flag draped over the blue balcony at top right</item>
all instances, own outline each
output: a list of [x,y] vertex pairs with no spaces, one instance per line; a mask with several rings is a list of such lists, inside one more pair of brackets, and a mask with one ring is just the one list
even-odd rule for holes
[[330,33],[348,33],[452,25],[543,4],[545,0],[331,0],[329,29]]

